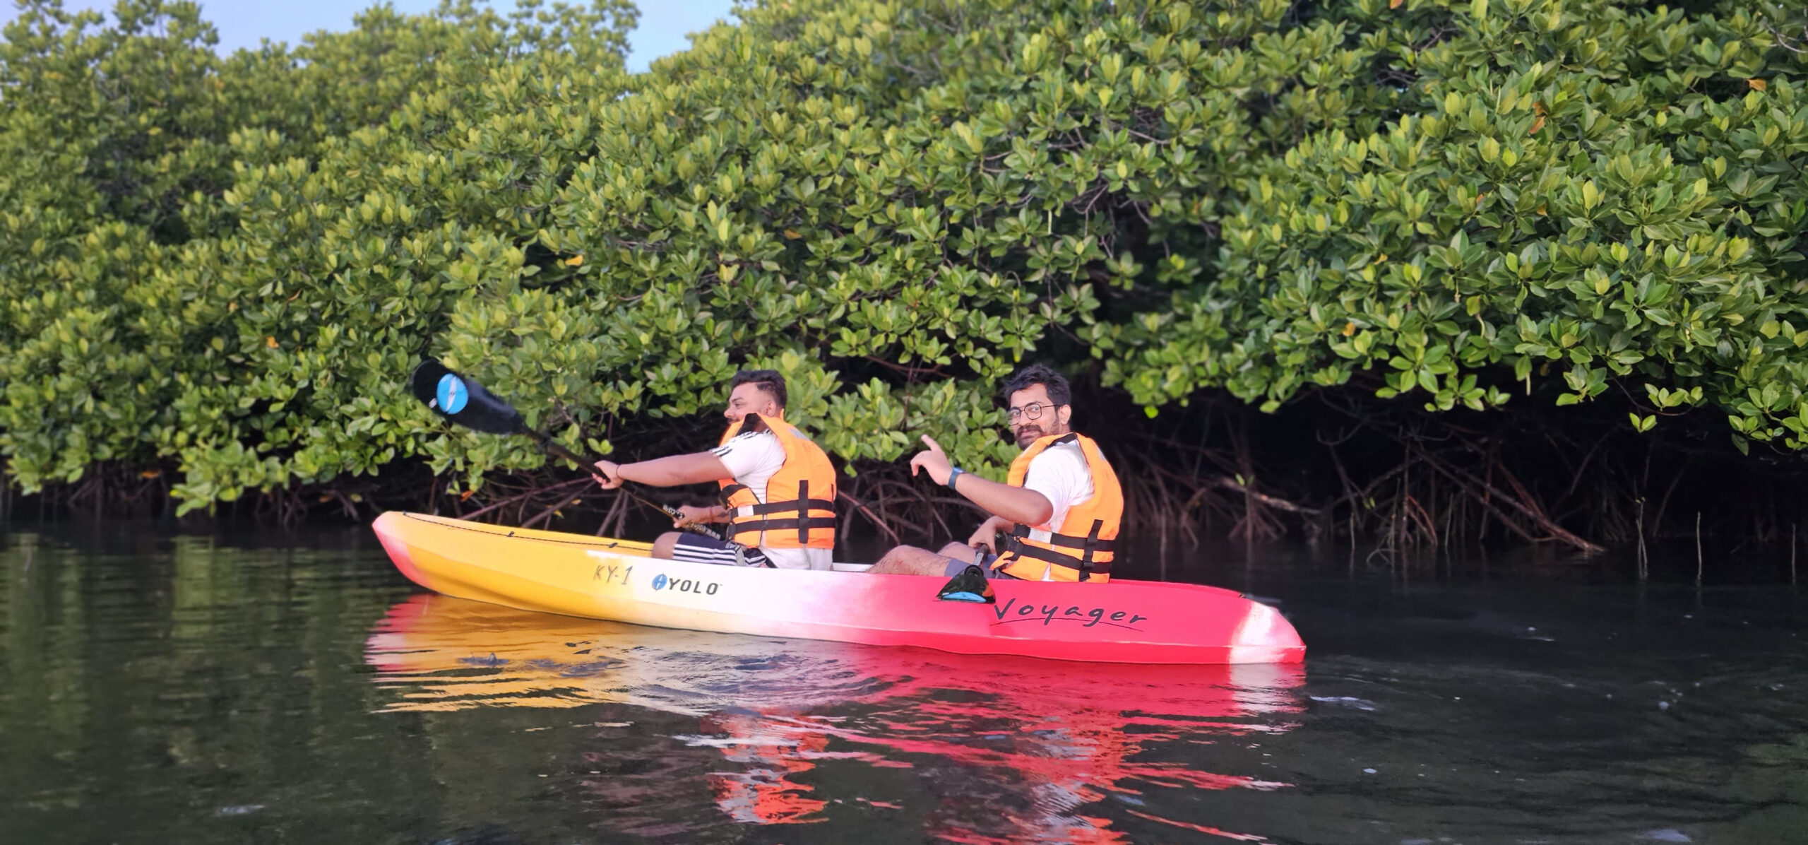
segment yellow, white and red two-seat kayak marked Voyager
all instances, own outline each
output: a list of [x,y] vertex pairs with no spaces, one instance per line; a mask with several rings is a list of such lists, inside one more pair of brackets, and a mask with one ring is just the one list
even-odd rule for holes
[[[649,543],[387,512],[372,525],[416,584],[584,619],[759,637],[1134,664],[1300,662],[1280,612],[1233,590],[1112,579],[994,581],[996,604],[940,581],[651,557]],[[837,568],[852,568],[837,565]]]

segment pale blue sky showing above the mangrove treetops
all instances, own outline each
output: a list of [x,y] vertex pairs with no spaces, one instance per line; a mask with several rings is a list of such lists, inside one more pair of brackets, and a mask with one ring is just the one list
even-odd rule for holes
[[[239,47],[255,47],[259,40],[300,43],[302,34],[318,29],[351,29],[353,14],[376,5],[376,0],[201,0],[201,16],[221,33],[221,52]],[[391,0],[401,13],[423,13],[438,0]],[[501,0],[499,9],[513,9],[513,2]],[[691,45],[689,33],[709,29],[716,20],[732,20],[732,0],[636,0],[640,7],[640,27],[629,34],[631,51],[627,54],[629,71],[645,71],[647,65]],[[65,0],[65,9],[110,9],[107,0]],[[11,0],[0,0],[0,24],[18,16],[18,7]]]

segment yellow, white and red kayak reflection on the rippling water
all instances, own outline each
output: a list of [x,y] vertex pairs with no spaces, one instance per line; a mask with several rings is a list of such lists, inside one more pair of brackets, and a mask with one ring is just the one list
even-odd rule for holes
[[[378,682],[403,691],[389,709],[617,702],[696,715],[698,735],[673,740],[718,749],[716,764],[669,756],[664,780],[702,774],[716,807],[739,823],[824,821],[835,802],[899,807],[899,796],[846,796],[848,783],[823,782],[826,762],[917,769],[929,802],[913,809],[904,798],[904,811],[926,816],[926,836],[969,843],[1128,841],[1083,807],[1266,841],[1121,803],[1139,803],[1148,787],[1285,787],[1201,771],[1197,745],[1293,727],[1285,718],[1304,682],[1300,666],[1079,664],[767,641],[443,595],[391,608],[367,660],[381,669]],[[660,800],[620,778],[586,785],[609,793],[613,807]],[[1099,805],[1110,794],[1132,798]],[[653,818],[629,827],[671,831]]]

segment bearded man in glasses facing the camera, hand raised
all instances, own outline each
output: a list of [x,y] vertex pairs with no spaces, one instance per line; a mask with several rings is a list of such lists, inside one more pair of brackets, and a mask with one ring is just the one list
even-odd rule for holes
[[[949,543],[940,554],[897,546],[870,572],[955,577],[980,563],[991,579],[1110,581],[1123,490],[1097,443],[1069,427],[1074,409],[1067,378],[1034,364],[1005,382],[1005,394],[1011,429],[1023,449],[1011,461],[1005,483],[953,467],[928,434],[922,441],[929,449],[909,461],[913,476],[929,472],[993,514],[991,519],[965,545]],[[1003,554],[998,554],[1000,530],[1007,532]]]

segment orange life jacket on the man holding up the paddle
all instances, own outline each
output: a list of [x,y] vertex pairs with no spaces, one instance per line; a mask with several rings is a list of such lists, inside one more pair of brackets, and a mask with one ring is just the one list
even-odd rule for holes
[[[729,425],[727,443],[747,425]],[[835,465],[823,447],[783,418],[763,420],[785,449],[785,465],[767,481],[767,501],[732,478],[718,481],[729,508],[729,539],[743,546],[835,548]],[[814,494],[814,496],[812,496]]]

